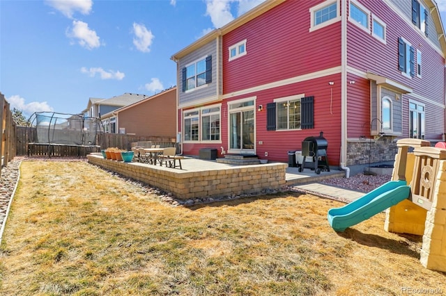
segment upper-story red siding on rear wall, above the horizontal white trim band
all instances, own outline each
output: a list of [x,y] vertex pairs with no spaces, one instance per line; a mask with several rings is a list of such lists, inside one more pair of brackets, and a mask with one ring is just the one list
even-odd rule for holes
[[[223,36],[223,93],[341,65],[341,22],[309,32],[309,8],[322,1],[286,1]],[[229,47],[247,40],[247,55],[229,61]]]

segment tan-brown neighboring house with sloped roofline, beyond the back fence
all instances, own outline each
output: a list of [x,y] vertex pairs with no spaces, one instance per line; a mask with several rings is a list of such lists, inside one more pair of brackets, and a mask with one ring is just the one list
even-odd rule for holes
[[114,110],[119,133],[176,138],[176,86]]

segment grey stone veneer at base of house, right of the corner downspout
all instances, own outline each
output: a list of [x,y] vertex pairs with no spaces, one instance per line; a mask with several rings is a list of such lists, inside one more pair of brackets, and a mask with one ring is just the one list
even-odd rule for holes
[[397,143],[393,137],[383,136],[378,140],[364,139],[347,142],[347,165],[364,165],[394,161],[398,153]]

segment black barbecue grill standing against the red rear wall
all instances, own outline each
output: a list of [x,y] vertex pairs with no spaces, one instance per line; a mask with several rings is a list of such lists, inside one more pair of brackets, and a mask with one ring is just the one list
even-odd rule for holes
[[321,174],[321,170],[330,172],[330,166],[328,165],[327,158],[328,141],[323,138],[323,132],[318,137],[307,137],[302,141],[302,165],[299,167],[299,172],[304,171],[305,158],[312,157],[314,168],[312,170],[316,174]]

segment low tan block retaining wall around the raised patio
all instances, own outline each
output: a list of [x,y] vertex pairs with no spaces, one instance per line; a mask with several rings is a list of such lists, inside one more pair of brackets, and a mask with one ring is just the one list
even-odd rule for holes
[[286,185],[285,163],[243,165],[225,170],[189,172],[159,165],[124,163],[89,154],[89,163],[172,192],[178,199],[224,197],[280,189]]

